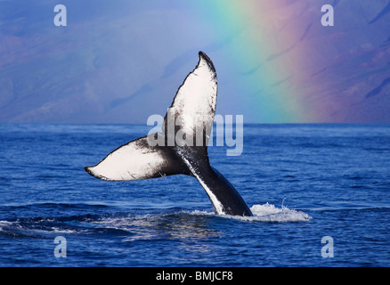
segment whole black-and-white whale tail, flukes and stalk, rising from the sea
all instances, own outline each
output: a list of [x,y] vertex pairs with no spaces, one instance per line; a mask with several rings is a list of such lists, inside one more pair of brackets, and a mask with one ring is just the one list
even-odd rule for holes
[[177,90],[161,132],[118,147],[85,171],[110,181],[191,175],[207,192],[216,214],[252,216],[232,183],[210,166],[207,142],[215,105],[215,67],[206,53],[199,52],[198,65]]

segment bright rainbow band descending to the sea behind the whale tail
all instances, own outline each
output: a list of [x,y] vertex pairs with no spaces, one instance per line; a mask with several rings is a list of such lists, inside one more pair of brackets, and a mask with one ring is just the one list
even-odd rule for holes
[[[307,97],[316,94],[314,64],[305,37],[314,24],[307,3],[270,0],[192,1],[209,33],[227,38],[218,51],[233,58],[237,81],[226,89],[241,92],[246,122],[301,123],[321,121]],[[319,12],[321,5],[319,5]],[[314,13],[315,14],[315,13]],[[318,16],[318,13],[315,14]],[[222,36],[223,35],[223,36]],[[214,58],[214,55],[211,54]],[[228,84],[228,83],[227,83]],[[221,88],[223,86],[219,85]],[[310,97],[310,96],[309,96]]]

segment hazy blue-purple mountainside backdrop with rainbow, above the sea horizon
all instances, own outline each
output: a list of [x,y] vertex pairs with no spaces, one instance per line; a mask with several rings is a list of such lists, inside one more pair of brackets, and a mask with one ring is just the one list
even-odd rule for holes
[[217,114],[390,122],[389,27],[389,0],[0,0],[0,123],[146,124],[199,51]]

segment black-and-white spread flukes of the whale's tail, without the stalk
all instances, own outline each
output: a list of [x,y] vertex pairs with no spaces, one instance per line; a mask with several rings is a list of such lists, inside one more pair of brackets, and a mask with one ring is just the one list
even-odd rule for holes
[[97,165],[84,167],[85,171],[111,181],[192,175],[177,152],[190,152],[208,162],[207,143],[215,104],[215,68],[206,53],[199,52],[197,67],[185,78],[167,110],[162,132],[142,136],[118,147]]

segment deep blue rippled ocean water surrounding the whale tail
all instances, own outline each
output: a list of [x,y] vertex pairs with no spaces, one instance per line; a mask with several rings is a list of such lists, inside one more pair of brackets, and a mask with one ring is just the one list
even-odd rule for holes
[[192,177],[85,173],[148,131],[0,125],[0,266],[390,266],[390,125],[246,125],[240,156],[209,147],[253,217],[216,216]]

